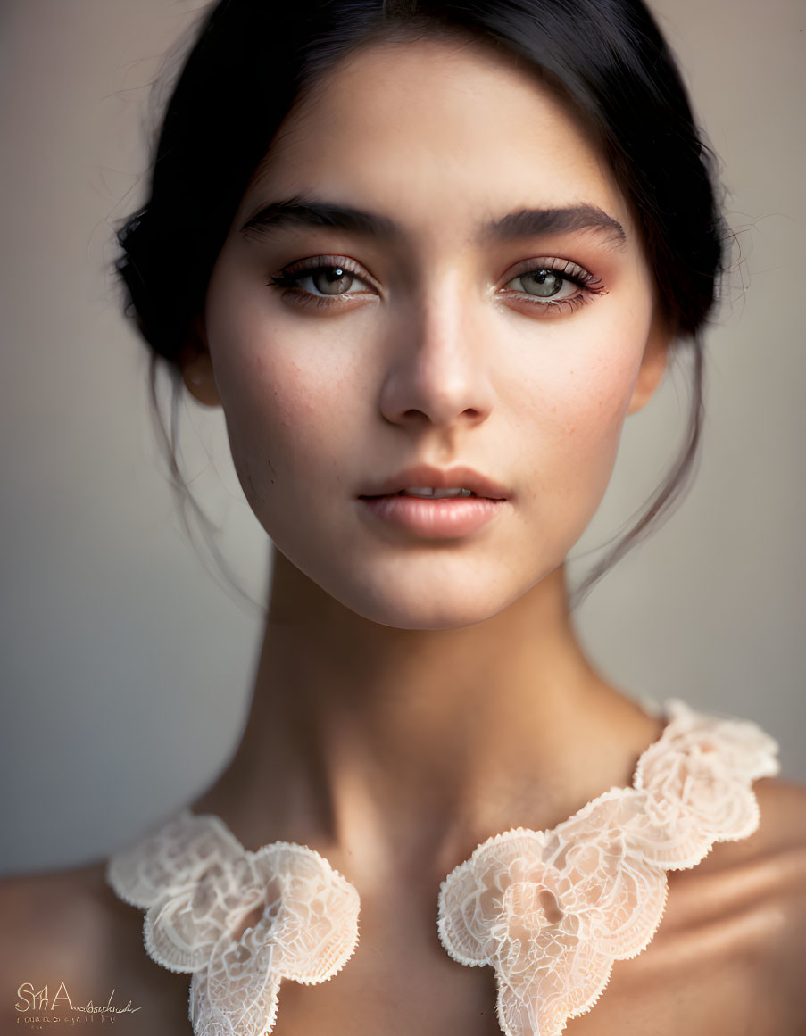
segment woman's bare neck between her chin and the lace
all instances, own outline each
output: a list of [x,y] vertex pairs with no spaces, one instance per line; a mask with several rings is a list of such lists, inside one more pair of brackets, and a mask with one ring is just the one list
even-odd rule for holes
[[584,657],[563,568],[484,623],[401,630],[276,551],[270,602],[240,746],[194,805],[247,847],[316,843],[368,879],[424,857],[447,870],[629,784],[660,732]]

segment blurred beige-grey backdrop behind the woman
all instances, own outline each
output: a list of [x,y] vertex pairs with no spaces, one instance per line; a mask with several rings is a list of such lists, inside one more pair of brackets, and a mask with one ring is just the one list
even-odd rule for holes
[[[199,0],[4,0],[3,723],[6,872],[106,855],[199,794],[234,747],[259,620],[205,572],[157,459],[145,349],[119,315],[113,226],[141,198],[148,84]],[[579,613],[638,698],[757,719],[806,778],[804,13],[658,0],[724,163],[741,254],[709,337],[695,488]],[[677,450],[673,372],[630,418],[572,556],[617,531]],[[220,413],[183,413],[194,487],[260,598],[266,545]],[[575,571],[580,571],[576,569]]]

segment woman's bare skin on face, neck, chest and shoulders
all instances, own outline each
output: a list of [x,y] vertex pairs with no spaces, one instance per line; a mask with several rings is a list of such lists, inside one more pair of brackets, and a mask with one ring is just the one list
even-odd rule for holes
[[[394,220],[397,236],[243,230],[300,196]],[[624,237],[480,236],[523,209],[578,206]],[[323,260],[350,271],[330,293],[321,272],[298,269]],[[575,301],[535,300],[527,275],[549,266],[576,276],[556,282]],[[286,982],[276,1036],[499,1032],[491,970],[457,965],[438,943],[439,883],[491,834],[553,827],[629,785],[660,735],[586,659],[564,560],[671,341],[632,213],[584,127],[486,49],[358,52],[289,116],[254,177],[183,373],[198,399],[223,405],[277,550],[244,737],[192,806],[251,850],[311,845],[362,897],[355,956],[323,985]],[[508,502],[453,541],[368,520],[356,496],[416,462],[468,464]],[[670,875],[654,942],[615,965],[569,1033],[804,1030],[804,792],[755,787],[759,831]],[[71,976],[96,1002],[116,987],[143,1007],[120,1031],[190,1031],[190,977],[148,960],[142,915],[104,886],[102,866],[20,879],[0,896],[17,903],[9,978]]]

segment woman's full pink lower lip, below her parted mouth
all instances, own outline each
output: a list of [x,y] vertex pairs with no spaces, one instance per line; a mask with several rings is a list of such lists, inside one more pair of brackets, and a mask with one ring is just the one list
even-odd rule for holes
[[359,496],[358,499],[382,521],[407,528],[418,536],[447,539],[467,536],[495,517],[506,500],[485,496]]

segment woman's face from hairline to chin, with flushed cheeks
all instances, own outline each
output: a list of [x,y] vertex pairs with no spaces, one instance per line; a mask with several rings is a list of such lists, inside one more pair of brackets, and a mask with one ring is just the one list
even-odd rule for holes
[[[450,42],[358,52],[284,123],[209,285],[251,507],[365,617],[488,618],[594,515],[662,373],[653,298],[608,169],[526,71]],[[436,483],[395,482],[414,464],[466,465],[506,499],[403,500]]]

